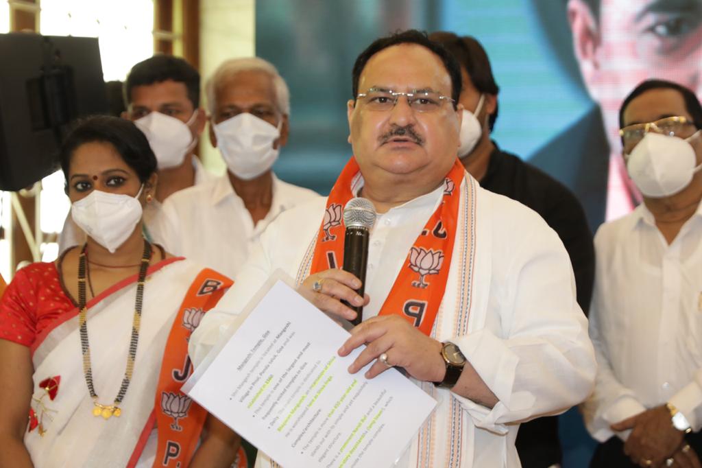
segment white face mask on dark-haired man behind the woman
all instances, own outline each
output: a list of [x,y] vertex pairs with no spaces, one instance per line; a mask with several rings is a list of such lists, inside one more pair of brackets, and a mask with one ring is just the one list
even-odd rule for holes
[[149,145],[156,155],[159,169],[170,169],[183,164],[185,155],[192,151],[197,143],[197,138],[192,136],[190,125],[197,117],[197,110],[192,112],[192,117],[186,123],[161,114],[150,112],[134,121],[136,126],[146,135]]

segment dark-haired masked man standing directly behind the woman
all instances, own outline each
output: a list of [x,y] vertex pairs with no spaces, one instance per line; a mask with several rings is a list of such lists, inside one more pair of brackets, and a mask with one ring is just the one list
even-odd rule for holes
[[[213,178],[194,155],[206,116],[200,103],[200,74],[183,58],[158,55],[137,63],[124,83],[126,111],[147,136],[158,163],[154,197],[144,208],[144,234],[158,238],[154,226],[161,204],[173,193]],[[61,251],[85,242],[84,233],[67,217],[59,237]]]

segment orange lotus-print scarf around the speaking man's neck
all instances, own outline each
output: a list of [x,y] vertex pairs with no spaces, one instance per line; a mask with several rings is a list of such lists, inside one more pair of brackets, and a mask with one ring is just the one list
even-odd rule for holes
[[[442,202],[414,241],[378,314],[396,313],[426,335],[432,332],[449,278],[461,204],[461,195],[456,189],[461,187],[464,172],[463,165],[456,159],[444,179]],[[358,163],[352,157],[326,199],[310,274],[343,265],[345,226],[342,212],[346,202],[355,196],[360,178]]]

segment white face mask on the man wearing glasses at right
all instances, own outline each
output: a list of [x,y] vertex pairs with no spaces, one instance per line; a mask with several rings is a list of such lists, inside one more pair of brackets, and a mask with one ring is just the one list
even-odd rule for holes
[[695,150],[689,138],[647,133],[630,152],[626,168],[641,193],[651,198],[662,198],[689,186],[694,174],[702,168],[695,166]]

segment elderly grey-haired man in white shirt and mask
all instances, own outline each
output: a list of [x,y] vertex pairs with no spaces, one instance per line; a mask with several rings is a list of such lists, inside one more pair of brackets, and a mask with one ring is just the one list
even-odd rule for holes
[[168,197],[157,219],[158,240],[169,252],[233,278],[273,219],[319,195],[273,174],[288,141],[290,97],[271,63],[227,60],[208,79],[206,93],[210,140],[227,173]]

